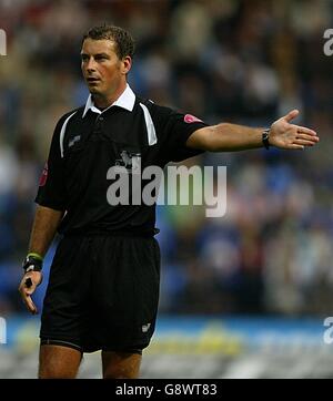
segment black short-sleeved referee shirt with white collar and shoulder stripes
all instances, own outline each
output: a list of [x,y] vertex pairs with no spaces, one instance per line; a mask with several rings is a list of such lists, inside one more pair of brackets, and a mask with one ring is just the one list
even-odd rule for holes
[[[60,234],[153,235],[155,204],[111,206],[108,169],[114,165],[131,168],[133,155],[141,158],[141,169],[198,155],[202,152],[185,143],[203,126],[206,124],[192,115],[141,100],[129,85],[102,112],[89,96],[85,106],[59,120],[36,202],[65,212]],[[144,185],[147,182],[141,187]]]

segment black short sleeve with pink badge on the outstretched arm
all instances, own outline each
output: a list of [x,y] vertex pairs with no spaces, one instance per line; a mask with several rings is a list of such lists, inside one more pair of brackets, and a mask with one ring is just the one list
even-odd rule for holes
[[159,140],[165,162],[181,162],[202,154],[204,151],[186,146],[188,138],[196,130],[208,126],[206,123],[192,114],[176,112],[169,107],[158,107],[160,122]]

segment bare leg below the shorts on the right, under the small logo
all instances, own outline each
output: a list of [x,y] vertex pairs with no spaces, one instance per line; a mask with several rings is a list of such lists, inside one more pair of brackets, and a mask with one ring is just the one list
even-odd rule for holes
[[102,351],[103,379],[138,379],[141,354]]

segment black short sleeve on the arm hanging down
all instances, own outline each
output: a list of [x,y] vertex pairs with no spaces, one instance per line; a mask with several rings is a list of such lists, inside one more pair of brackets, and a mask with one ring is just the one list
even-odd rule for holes
[[64,119],[62,117],[56,126],[49,157],[41,173],[38,194],[34,199],[40,206],[56,210],[65,209],[64,167],[60,154],[60,132],[63,122]]

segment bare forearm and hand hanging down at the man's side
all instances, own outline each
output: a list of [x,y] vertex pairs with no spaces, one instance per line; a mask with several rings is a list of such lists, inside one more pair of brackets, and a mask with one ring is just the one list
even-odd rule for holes
[[[29,253],[36,253],[41,257],[46,255],[62,216],[63,212],[38,206],[30,237]],[[29,281],[27,282],[27,279],[30,279],[30,285],[28,284]],[[23,302],[33,315],[37,313],[37,308],[31,299],[31,295],[37,286],[41,284],[41,280],[42,273],[32,270],[24,274],[19,287]]]

